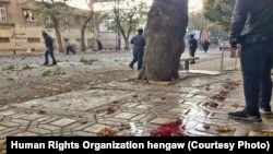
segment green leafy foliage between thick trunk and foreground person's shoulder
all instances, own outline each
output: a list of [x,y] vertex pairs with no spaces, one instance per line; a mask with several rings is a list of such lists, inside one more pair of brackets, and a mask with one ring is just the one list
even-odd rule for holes
[[226,33],[230,28],[235,0],[203,0],[204,17],[218,24]]

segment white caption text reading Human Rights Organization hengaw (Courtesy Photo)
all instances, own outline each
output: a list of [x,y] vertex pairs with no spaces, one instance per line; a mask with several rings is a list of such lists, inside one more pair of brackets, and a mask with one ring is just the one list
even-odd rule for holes
[[37,149],[45,149],[45,150],[58,150],[58,151],[64,151],[64,150],[72,150],[72,149],[84,149],[84,150],[94,150],[94,151],[100,151],[100,150],[133,150],[133,149],[149,149],[149,150],[165,150],[165,151],[171,151],[171,150],[188,150],[188,151],[194,151],[194,150],[227,150],[227,151],[234,151],[234,150],[265,150],[270,151],[270,142],[269,141],[256,141],[256,142],[249,142],[249,141],[236,141],[236,142],[200,142],[197,140],[188,141],[188,142],[178,142],[178,143],[162,143],[162,142],[133,142],[133,141],[126,141],[126,142],[118,142],[118,141],[111,141],[106,143],[96,143],[93,141],[83,141],[83,142],[76,142],[76,141],[47,141],[47,142],[40,142],[40,143],[22,143],[19,141],[11,141],[10,149],[27,149],[27,150],[37,150]]

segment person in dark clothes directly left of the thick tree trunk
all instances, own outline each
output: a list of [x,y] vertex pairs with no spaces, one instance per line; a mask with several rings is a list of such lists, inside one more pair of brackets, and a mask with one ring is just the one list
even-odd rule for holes
[[144,47],[146,45],[142,28],[138,29],[138,35],[132,37],[131,44],[133,44],[133,59],[129,63],[129,67],[133,69],[133,64],[138,62],[138,70],[140,70],[142,68]]

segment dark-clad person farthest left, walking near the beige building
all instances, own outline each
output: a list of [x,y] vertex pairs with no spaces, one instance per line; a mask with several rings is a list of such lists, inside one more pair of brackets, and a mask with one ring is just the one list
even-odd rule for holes
[[45,63],[44,66],[48,64],[48,55],[50,55],[52,59],[52,64],[57,64],[57,61],[54,56],[54,39],[51,36],[49,36],[45,31],[41,32],[41,35],[45,39],[45,45],[46,45],[46,52],[45,52]]

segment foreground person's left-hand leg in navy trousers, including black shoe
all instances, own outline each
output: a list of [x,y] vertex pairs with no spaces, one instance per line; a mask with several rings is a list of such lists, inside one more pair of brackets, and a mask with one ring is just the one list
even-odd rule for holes
[[244,79],[246,107],[241,111],[229,112],[229,117],[261,120],[259,114],[260,78],[265,61],[263,44],[242,44],[240,62]]

